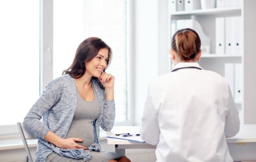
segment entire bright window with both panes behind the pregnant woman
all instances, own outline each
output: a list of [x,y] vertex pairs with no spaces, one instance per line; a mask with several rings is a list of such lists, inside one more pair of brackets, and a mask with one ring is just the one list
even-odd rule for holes
[[0,134],[17,131],[16,122],[23,121],[39,98],[40,79],[61,76],[72,64],[78,45],[90,36],[101,38],[113,50],[106,71],[115,76],[115,122],[127,121],[126,0],[54,0],[53,36],[46,34],[46,40],[53,39],[53,69],[43,68],[47,72],[41,78],[40,1],[1,0],[0,20],[0,108],[4,110],[0,113]]

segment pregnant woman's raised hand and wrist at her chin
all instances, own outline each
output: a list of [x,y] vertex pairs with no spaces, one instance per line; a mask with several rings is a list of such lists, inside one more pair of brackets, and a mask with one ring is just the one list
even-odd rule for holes
[[106,89],[106,100],[114,100],[115,76],[102,72],[98,79]]

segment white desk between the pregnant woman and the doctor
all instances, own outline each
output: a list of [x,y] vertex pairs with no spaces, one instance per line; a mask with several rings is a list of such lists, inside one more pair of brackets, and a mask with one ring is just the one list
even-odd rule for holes
[[[106,132],[107,136],[115,134],[139,133],[140,126],[114,126],[111,132]],[[125,155],[125,149],[147,148],[155,149],[147,143],[132,142],[107,138],[108,144],[115,145],[115,152]],[[229,152],[234,161],[256,162],[256,124],[241,125],[239,133],[231,138],[227,138]]]

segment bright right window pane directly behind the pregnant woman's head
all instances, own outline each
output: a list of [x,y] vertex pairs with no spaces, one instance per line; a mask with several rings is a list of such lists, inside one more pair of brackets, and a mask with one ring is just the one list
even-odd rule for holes
[[113,50],[113,60],[106,72],[115,76],[115,122],[124,122],[127,120],[126,0],[54,0],[53,78],[72,64],[78,45],[92,36],[101,38]]

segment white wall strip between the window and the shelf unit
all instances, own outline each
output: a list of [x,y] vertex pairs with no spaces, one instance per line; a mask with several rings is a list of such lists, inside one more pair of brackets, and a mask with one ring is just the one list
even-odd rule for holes
[[168,72],[168,0],[135,1],[135,125],[141,124],[147,87]]

